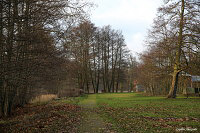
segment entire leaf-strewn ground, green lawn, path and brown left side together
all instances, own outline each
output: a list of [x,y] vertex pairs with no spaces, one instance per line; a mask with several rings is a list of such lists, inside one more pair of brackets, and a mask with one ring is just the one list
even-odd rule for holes
[[166,99],[139,93],[94,94],[27,105],[11,118],[0,119],[0,132],[106,131],[200,132],[200,98]]

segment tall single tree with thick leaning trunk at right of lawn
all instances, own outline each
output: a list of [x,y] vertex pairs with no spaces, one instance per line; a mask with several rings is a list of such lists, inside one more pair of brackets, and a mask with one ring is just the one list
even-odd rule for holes
[[[169,98],[176,97],[180,73],[186,71],[192,74],[194,71],[191,69],[193,67],[191,55],[198,53],[200,33],[198,30],[193,32],[193,27],[199,29],[199,16],[198,1],[167,0],[159,8],[154,26],[149,32],[147,38],[147,44],[151,49],[149,55],[155,60],[152,65],[172,75]],[[163,66],[167,69],[163,69]]]

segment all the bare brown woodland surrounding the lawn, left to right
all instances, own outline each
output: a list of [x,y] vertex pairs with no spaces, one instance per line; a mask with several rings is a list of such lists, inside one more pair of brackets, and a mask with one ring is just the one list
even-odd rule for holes
[[175,97],[187,87],[181,72],[200,75],[198,0],[164,2],[140,61],[121,31],[90,21],[91,7],[81,0],[0,1],[0,115],[41,90],[122,92],[137,81],[149,94]]

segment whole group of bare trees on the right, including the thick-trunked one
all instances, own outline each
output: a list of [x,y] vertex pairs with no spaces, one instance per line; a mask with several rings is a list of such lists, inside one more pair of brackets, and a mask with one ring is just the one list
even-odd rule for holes
[[200,75],[199,7],[198,0],[167,0],[158,9],[138,68],[150,94],[175,98],[188,87],[181,73]]

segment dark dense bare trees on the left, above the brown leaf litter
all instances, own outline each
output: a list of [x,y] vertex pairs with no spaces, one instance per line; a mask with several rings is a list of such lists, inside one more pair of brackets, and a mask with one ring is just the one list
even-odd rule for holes
[[57,93],[70,62],[60,40],[90,6],[76,0],[0,1],[0,114],[10,115],[39,88]]

